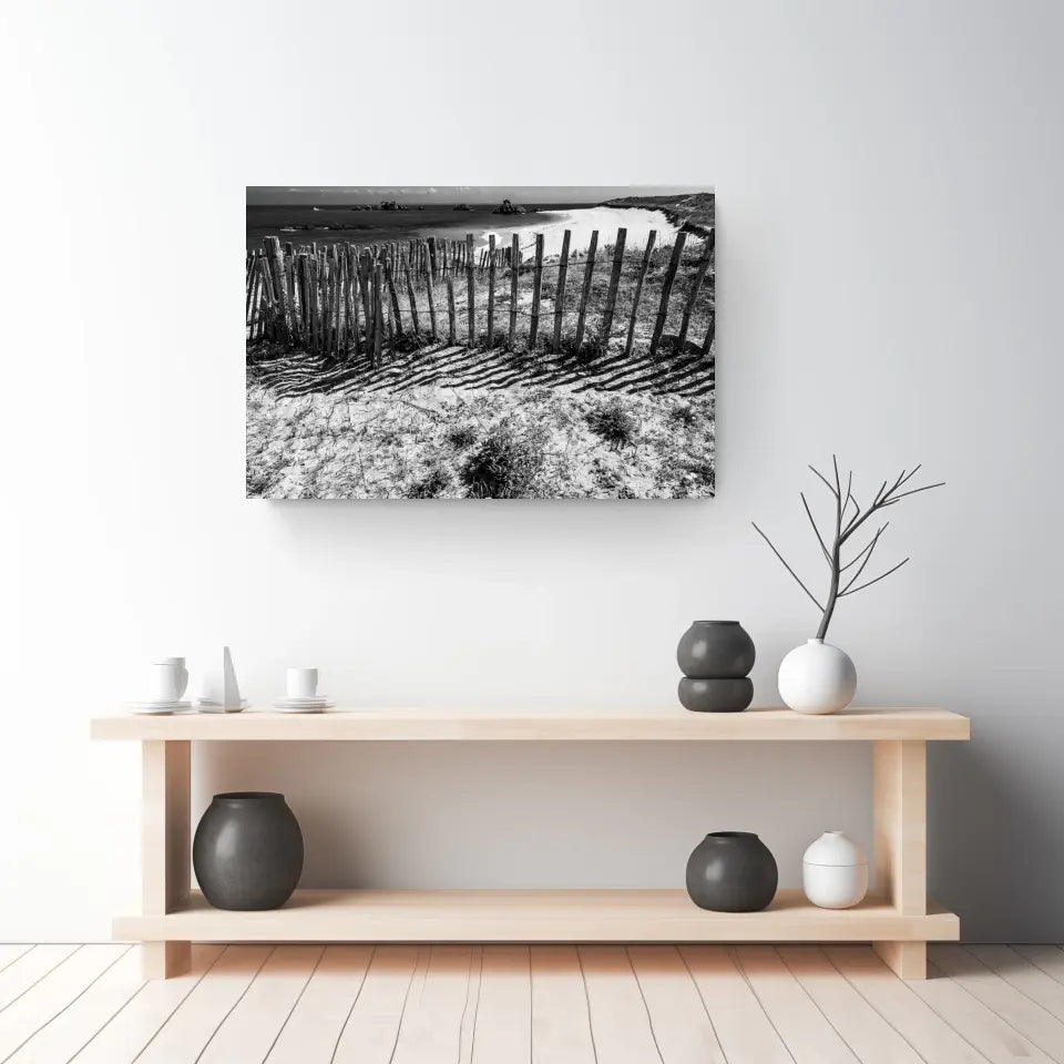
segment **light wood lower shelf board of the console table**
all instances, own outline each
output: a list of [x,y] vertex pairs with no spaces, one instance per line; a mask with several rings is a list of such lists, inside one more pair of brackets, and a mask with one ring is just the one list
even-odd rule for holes
[[869,896],[818,909],[781,890],[761,912],[706,912],[682,890],[297,890],[282,909],[214,909],[198,891],[165,915],[117,917],[114,937],[219,942],[898,942],[955,941],[934,903],[904,915]]

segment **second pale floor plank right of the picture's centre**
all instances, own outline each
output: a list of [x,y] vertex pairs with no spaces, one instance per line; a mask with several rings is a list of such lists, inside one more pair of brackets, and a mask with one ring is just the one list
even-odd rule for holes
[[624,948],[581,945],[576,954],[584,973],[598,1064],[661,1062],[651,1019]]

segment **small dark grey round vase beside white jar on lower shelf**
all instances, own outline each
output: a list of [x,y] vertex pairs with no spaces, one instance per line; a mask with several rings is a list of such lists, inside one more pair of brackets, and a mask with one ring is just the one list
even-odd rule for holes
[[776,858],[749,831],[714,831],[687,858],[687,893],[699,909],[758,912],[778,882]]

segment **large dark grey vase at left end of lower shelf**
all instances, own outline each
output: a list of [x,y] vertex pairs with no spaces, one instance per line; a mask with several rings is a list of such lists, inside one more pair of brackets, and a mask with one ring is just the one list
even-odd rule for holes
[[284,795],[215,795],[196,828],[192,863],[216,909],[279,909],[303,872],[303,832]]

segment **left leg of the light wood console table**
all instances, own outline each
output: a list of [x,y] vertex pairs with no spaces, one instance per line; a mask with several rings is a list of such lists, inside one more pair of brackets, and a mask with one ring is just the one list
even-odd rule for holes
[[[192,845],[192,744],[142,744],[141,906],[147,915],[180,909],[188,900]],[[192,966],[192,943],[144,942],[145,979],[183,975]]]

